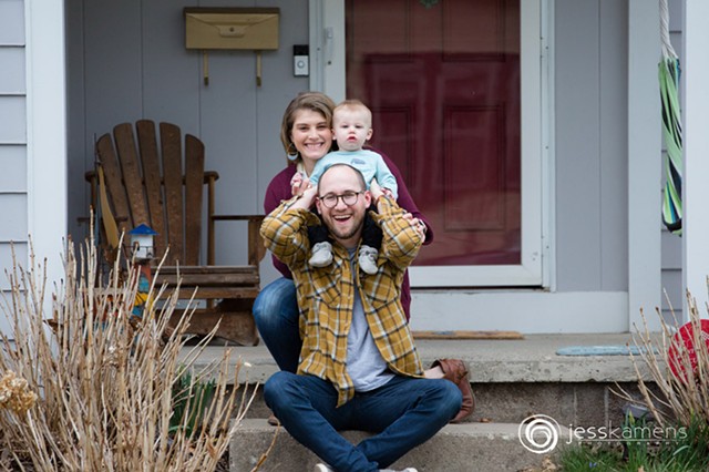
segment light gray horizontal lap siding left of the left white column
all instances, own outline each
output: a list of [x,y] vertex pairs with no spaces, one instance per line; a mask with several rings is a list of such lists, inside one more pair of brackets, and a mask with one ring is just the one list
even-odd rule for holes
[[[27,107],[24,3],[0,1],[0,290],[12,253],[27,266]],[[9,334],[4,316],[0,331]]]

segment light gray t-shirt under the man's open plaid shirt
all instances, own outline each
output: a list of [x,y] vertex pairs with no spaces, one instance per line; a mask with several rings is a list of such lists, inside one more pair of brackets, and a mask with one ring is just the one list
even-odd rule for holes
[[[350,261],[354,264],[357,249],[350,249],[349,253]],[[379,353],[374,338],[369,330],[357,285],[354,285],[352,324],[347,334],[347,373],[350,374],[354,391],[358,392],[374,390],[394,377],[387,368],[387,362]]]

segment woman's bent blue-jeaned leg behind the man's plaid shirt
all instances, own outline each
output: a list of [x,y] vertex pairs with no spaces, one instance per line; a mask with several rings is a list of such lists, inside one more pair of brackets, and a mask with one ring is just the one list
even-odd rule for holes
[[261,289],[254,301],[254,319],[280,370],[296,373],[300,358],[296,285],[281,277]]

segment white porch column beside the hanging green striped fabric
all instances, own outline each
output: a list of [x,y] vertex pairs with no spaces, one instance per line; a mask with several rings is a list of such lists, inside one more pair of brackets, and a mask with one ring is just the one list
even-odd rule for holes
[[[706,0],[698,0],[706,1]],[[661,122],[657,63],[659,3],[628,2],[628,328],[651,329],[661,301]]]

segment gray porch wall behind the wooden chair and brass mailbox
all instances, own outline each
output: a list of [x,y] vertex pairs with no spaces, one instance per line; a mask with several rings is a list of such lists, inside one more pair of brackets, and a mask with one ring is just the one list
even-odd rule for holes
[[[76,218],[89,208],[83,174],[93,166],[94,138],[115,124],[140,119],[173,122],[183,133],[204,141],[206,166],[220,176],[215,196],[218,213],[263,213],[266,186],[286,162],[278,138],[282,111],[309,84],[307,78],[292,75],[292,44],[308,43],[307,2],[267,4],[280,8],[280,47],[263,52],[260,88],[256,86],[254,51],[209,51],[209,85],[203,84],[203,58],[185,49],[183,19],[183,8],[198,3],[69,3],[70,230],[85,235]],[[217,1],[204,6],[265,4]],[[245,260],[245,247],[235,244],[235,234],[244,234],[240,225],[217,226],[217,263]],[[263,267],[270,270],[270,264]]]

